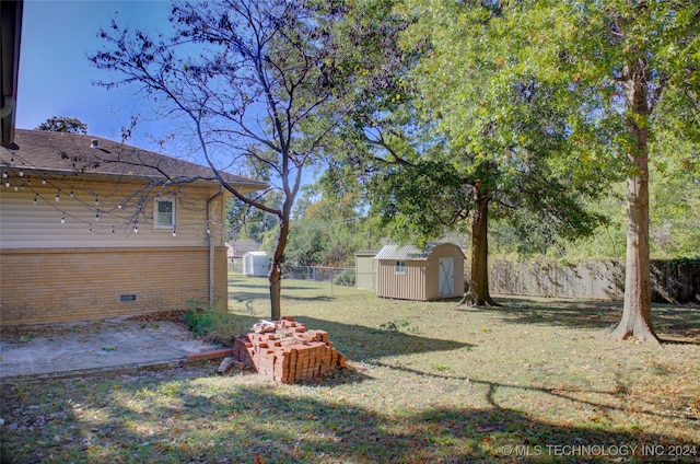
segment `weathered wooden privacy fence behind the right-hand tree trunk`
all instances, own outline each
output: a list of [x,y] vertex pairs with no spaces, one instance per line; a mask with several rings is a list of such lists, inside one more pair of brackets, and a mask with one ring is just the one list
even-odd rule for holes
[[[625,292],[625,265],[612,260],[572,264],[494,259],[489,283],[497,294],[620,300]],[[700,303],[700,258],[652,260],[652,300]]]

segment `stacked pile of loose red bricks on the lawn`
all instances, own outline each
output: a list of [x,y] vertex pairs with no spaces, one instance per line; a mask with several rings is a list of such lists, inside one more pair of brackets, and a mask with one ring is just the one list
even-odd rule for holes
[[346,356],[332,347],[325,330],[310,330],[293,317],[275,322],[272,332],[237,337],[233,357],[279,383],[295,383],[346,367]]

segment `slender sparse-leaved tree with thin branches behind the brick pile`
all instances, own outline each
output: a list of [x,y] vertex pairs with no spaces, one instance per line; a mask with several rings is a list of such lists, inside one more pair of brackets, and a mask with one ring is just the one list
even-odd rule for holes
[[[100,32],[105,47],[90,57],[120,73],[104,85],[137,84],[164,116],[184,116],[221,185],[279,218],[269,272],[273,320],[281,316],[280,266],[304,170],[345,112],[326,28],[336,13],[330,4],[284,0],[174,1],[172,37],[113,22]],[[279,189],[281,207],[236,190],[222,176],[234,169]]]

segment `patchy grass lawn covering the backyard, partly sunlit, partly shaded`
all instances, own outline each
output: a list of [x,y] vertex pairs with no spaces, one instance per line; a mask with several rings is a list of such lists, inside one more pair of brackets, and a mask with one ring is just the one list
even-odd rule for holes
[[[698,306],[656,305],[669,343],[653,347],[606,337],[617,302],[282,292],[351,369],[303,385],[218,362],[3,385],[2,462],[700,462]],[[231,294],[241,332],[269,317],[265,279],[232,276]]]

